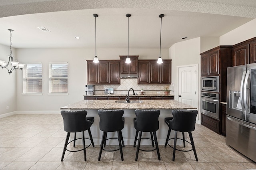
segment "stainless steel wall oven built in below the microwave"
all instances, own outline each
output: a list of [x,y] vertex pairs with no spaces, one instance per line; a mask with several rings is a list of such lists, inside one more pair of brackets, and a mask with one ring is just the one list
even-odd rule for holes
[[219,94],[201,92],[201,113],[219,119]]

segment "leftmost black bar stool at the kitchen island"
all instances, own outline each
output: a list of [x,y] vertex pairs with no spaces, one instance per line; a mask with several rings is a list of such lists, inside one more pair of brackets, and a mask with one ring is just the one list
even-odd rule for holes
[[[64,130],[67,132],[67,136],[66,136],[66,141],[65,141],[65,145],[64,145],[64,149],[62,152],[62,157],[61,157],[61,161],[63,161],[64,155],[66,150],[69,152],[78,152],[81,150],[84,150],[84,161],[86,161],[86,152],[85,149],[88,148],[91,144],[94,147],[94,142],[92,139],[92,134],[90,131],[90,127],[92,126],[92,124],[94,123],[94,117],[87,117],[87,111],[61,111],[60,112],[63,118],[63,124],[64,124]],[[86,147],[85,146],[85,137],[84,137],[84,131],[88,130],[89,136],[90,138],[86,138],[90,140],[90,144]],[[68,150],[67,146],[70,142],[68,142],[69,137],[70,137],[70,132],[74,132],[75,136],[74,136],[74,140],[70,141],[73,142],[74,141],[74,147],[75,147],[75,142],[78,139],[82,139],[83,141],[83,146],[84,148],[81,150]],[[83,137],[82,138],[78,138],[76,139],[76,132],[82,132]]]

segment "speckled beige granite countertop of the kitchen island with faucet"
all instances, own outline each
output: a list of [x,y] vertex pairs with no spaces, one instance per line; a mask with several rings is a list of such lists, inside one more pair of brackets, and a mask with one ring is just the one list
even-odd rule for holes
[[141,101],[142,103],[115,103],[114,100],[82,100],[60,109],[196,109],[176,100]]

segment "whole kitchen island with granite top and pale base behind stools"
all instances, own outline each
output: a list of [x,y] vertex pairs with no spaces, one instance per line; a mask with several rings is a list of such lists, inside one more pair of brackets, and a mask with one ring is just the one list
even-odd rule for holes
[[[117,100],[120,101],[120,100]],[[130,100],[133,102],[134,100]],[[137,100],[138,102],[138,100]],[[125,118],[124,129],[122,130],[124,142],[126,145],[133,145],[136,130],[134,128],[133,119],[136,117],[134,111],[136,109],[159,109],[159,130],[156,132],[158,138],[158,144],[164,145],[166,140],[166,135],[168,132],[168,127],[164,123],[165,117],[172,117],[172,110],[174,109],[196,109],[190,105],[178,102],[176,100],[140,100],[142,103],[116,103],[114,100],[82,100],[70,105],[60,108],[61,110],[86,110],[88,112],[87,117],[94,117],[95,121],[91,127],[92,137],[94,143],[99,145],[102,138],[102,131],[99,128],[100,118],[98,116],[99,109],[123,109]],[[88,136],[87,133],[85,133]],[[179,136],[180,135],[180,136]],[[182,134],[179,134],[178,137],[182,137]],[[174,136],[174,132],[171,132],[171,136]],[[71,135],[71,139],[72,139]],[[116,133],[109,132],[108,138],[116,137]],[[150,133],[142,133],[142,137],[150,137]],[[117,145],[118,140],[108,140],[108,144]],[[177,141],[178,142],[178,141]],[[143,140],[141,144],[148,145],[151,143],[151,140]],[[182,144],[182,142],[180,142]]]

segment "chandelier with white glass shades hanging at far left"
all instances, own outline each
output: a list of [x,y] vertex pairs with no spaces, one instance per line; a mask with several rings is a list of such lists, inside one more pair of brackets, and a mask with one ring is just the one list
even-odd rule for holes
[[[8,31],[10,31],[10,55],[9,55],[9,61],[8,63],[6,63],[5,61],[2,61],[0,60],[0,67],[5,68],[8,70],[8,73],[11,74],[13,70],[16,70],[16,69],[20,69],[22,70],[22,68],[24,67],[24,64],[22,63],[19,63],[19,62],[16,62],[16,61],[13,61],[13,56],[12,56],[12,31],[11,29],[8,29]],[[12,67],[9,67],[9,69],[7,68],[8,65],[11,63]]]

